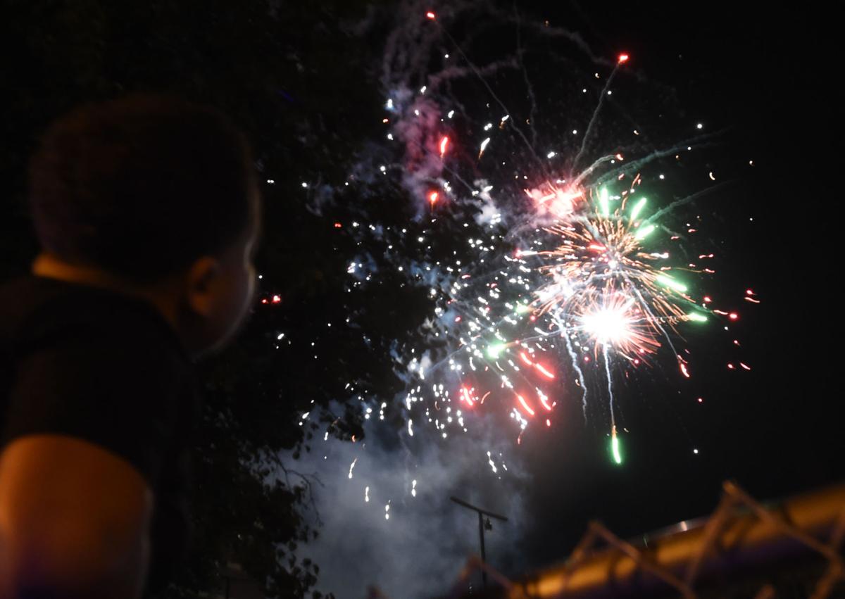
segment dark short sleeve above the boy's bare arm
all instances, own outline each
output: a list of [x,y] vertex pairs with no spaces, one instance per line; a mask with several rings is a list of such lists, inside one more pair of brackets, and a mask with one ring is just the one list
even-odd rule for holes
[[42,344],[18,362],[2,443],[80,438],[127,460],[157,490],[177,427],[180,381],[164,348],[117,331]]

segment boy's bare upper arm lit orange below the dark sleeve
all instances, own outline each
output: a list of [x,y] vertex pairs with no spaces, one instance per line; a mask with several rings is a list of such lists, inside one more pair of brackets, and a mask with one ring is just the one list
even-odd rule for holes
[[153,494],[126,460],[79,438],[14,440],[0,454],[0,599],[139,597]]

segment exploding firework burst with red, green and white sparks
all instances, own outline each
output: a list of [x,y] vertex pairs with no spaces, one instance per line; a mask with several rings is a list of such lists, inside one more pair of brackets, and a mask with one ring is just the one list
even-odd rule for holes
[[[436,244],[437,229],[465,230],[465,237],[448,238],[449,247],[456,238],[464,246],[460,258],[453,250],[451,259],[400,267],[430,286],[436,307],[427,326],[442,348],[417,347],[409,357],[406,411],[422,411],[421,419],[445,437],[450,430],[466,432],[469,414],[505,406],[521,438],[531,422],[551,426],[560,402],[580,396],[585,417],[594,402],[607,406],[611,455],[621,463],[614,378],[666,363],[690,378],[685,331],[735,319],[699,297],[702,280],[714,273],[673,246],[682,234],[664,224],[695,194],[666,201],[659,189],[663,175],[654,172],[662,159],[679,160],[706,137],[697,133],[663,150],[646,149],[637,127],[625,155],[613,150],[596,157],[602,145],[619,147],[602,137],[608,134],[602,109],[633,61],[627,53],[605,60],[590,54],[601,72],[590,84],[594,101],[586,126],[571,128],[569,141],[547,139],[540,150],[538,140],[548,138],[535,125],[544,96],[521,54],[473,63],[448,31],[459,12],[420,14],[428,48],[443,43],[454,52],[440,55],[441,69],[430,72],[428,61],[411,60],[398,37],[391,41],[393,62],[385,62],[385,81],[394,91],[385,103],[393,115],[388,139],[403,145],[402,182],[428,208],[420,218],[430,224],[417,242],[430,256],[437,248],[426,244]],[[408,27],[419,35],[417,25]],[[538,30],[569,35],[548,24]],[[397,75],[390,70],[394,63],[425,64],[416,71],[425,84],[412,91],[411,73]],[[490,83],[490,75],[509,69],[521,74],[530,100],[521,117]],[[450,85],[467,81],[480,86],[460,98],[450,92]],[[688,235],[694,232],[688,227]],[[705,250],[699,257],[712,255]]]

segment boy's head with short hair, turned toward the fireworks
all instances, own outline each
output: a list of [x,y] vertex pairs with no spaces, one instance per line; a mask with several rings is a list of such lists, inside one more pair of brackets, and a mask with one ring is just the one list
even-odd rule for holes
[[259,196],[221,113],[148,95],[70,112],[30,162],[30,209],[36,274],[152,299],[194,354],[243,320]]

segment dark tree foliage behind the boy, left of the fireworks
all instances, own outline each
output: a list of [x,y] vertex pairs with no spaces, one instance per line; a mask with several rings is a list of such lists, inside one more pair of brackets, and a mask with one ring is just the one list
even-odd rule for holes
[[[366,292],[345,274],[355,255],[380,252],[361,247],[349,232],[361,204],[381,221],[401,223],[407,203],[390,185],[379,199],[352,188],[332,191],[348,180],[363,144],[382,133],[377,41],[349,33],[370,4],[4,3],[4,278],[28,270],[37,249],[25,211],[28,156],[46,125],[81,102],[152,91],[217,106],[248,133],[262,181],[273,181],[262,190],[258,259],[259,301],[270,299],[256,305],[237,342],[202,368],[196,539],[187,568],[164,596],[220,590],[229,562],[241,564],[267,596],[319,596],[312,591],[317,564],[297,558],[297,547],[317,534],[305,512],[319,481],[279,452],[307,451],[317,427],[320,434],[360,438],[357,397],[390,398],[401,389],[390,349],[410,343],[414,315],[427,311],[428,300],[392,270]],[[319,193],[327,199],[318,202]],[[281,302],[272,302],[274,295]],[[304,412],[318,408],[324,422],[300,424]]]

